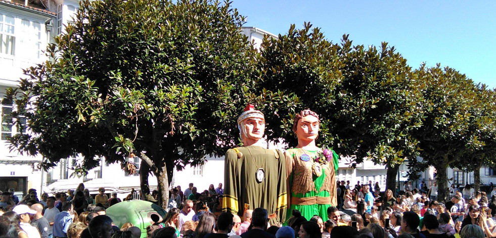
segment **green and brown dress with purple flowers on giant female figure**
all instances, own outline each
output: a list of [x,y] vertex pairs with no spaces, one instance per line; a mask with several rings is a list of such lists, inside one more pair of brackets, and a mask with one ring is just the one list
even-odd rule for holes
[[[337,205],[336,167],[339,156],[332,151],[333,159],[319,166],[319,163],[314,163],[314,158],[320,152],[321,149],[308,151],[297,148],[285,152],[289,173],[288,192],[291,193],[287,218],[292,216],[293,209],[297,209],[307,220],[313,215],[327,219],[327,208]],[[316,166],[322,170],[320,176],[314,173]]]

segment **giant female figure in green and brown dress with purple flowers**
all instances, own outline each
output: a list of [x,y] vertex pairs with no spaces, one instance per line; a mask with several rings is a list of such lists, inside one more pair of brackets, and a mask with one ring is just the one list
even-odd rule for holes
[[293,122],[298,146],[285,152],[288,174],[288,217],[293,209],[307,220],[313,215],[327,217],[327,208],[337,205],[336,169],[339,156],[318,148],[319,115],[310,110],[298,113]]

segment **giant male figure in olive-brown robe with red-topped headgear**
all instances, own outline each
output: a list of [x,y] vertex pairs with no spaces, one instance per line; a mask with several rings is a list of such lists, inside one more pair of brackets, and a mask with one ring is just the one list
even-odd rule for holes
[[265,118],[249,104],[238,117],[243,147],[228,150],[224,160],[222,211],[242,216],[245,210],[265,208],[270,223],[286,218],[286,165],[279,150],[263,148]]

